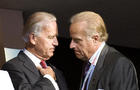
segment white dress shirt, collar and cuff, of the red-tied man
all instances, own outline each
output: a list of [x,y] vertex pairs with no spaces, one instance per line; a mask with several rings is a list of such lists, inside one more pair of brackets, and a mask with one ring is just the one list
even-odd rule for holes
[[[30,53],[26,49],[23,49],[23,52],[32,60],[32,62],[35,64],[36,67],[41,67],[41,65],[40,65],[41,60],[39,58],[37,58],[35,55]],[[44,78],[48,78],[54,85],[55,89],[59,90],[59,87],[58,87],[56,81],[53,79],[53,77],[51,75],[46,74],[46,75],[44,75]]]

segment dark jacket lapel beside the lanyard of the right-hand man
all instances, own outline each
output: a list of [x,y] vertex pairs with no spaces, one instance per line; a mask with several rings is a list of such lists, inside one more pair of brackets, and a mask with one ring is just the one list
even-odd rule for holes
[[99,59],[98,59],[98,62],[96,64],[96,67],[95,67],[95,70],[92,74],[92,78],[91,78],[91,81],[90,81],[90,84],[89,84],[89,88],[88,90],[96,90],[96,87],[97,86],[97,82],[100,78],[100,75],[102,73],[102,71],[104,70],[103,67],[103,64],[104,64],[104,59],[105,59],[105,56],[107,55],[107,52],[108,52],[108,46],[105,45],[100,56],[99,56]]

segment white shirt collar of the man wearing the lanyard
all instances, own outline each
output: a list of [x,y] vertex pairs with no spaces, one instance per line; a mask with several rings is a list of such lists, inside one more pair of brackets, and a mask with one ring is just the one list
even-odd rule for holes
[[103,49],[103,47],[105,46],[105,42],[102,42],[100,47],[97,49],[97,51],[91,56],[91,58],[89,59],[89,62],[90,63],[93,63],[93,65],[96,66],[97,64],[97,61],[98,61],[98,58],[100,56],[100,53]]

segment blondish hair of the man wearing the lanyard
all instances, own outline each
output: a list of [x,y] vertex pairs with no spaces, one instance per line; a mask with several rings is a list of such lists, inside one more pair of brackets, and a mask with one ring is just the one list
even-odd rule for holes
[[77,22],[86,22],[85,33],[87,36],[93,36],[98,34],[100,41],[106,41],[108,39],[108,34],[106,30],[105,23],[102,17],[92,11],[84,11],[74,15],[71,20],[71,23]]

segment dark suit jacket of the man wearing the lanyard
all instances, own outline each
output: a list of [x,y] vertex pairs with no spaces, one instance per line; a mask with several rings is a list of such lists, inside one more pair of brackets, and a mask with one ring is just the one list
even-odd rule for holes
[[[88,90],[139,90],[136,70],[129,59],[105,45]],[[81,89],[80,89],[81,90]]]

